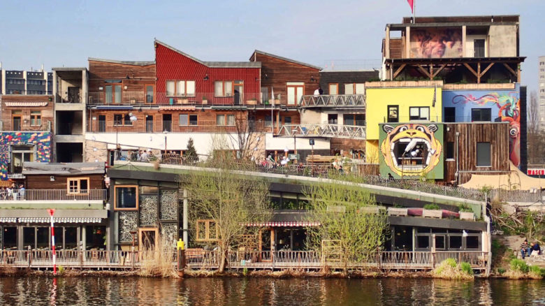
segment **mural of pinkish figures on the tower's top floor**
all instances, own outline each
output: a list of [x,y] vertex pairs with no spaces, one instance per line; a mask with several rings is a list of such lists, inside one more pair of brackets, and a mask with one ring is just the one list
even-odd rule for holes
[[462,29],[411,29],[411,58],[462,57]]

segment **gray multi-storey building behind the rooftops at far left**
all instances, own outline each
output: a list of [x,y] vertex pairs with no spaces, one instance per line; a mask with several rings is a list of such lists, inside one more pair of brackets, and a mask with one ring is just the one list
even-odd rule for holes
[[0,65],[0,94],[52,94],[53,73],[6,70]]

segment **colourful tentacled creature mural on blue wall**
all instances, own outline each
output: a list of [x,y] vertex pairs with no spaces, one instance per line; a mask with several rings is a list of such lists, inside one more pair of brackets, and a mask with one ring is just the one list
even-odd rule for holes
[[476,108],[490,109],[492,122],[509,122],[509,159],[515,166],[521,166],[521,98],[518,85],[511,91],[458,91],[443,92],[443,95],[444,106],[456,108],[457,114],[463,114],[464,122],[472,121],[472,110]]

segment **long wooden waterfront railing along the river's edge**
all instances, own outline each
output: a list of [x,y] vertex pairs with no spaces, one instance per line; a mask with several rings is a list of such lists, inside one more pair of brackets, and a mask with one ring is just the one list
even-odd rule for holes
[[[254,270],[376,268],[380,270],[432,270],[446,258],[467,262],[474,270],[486,270],[486,252],[377,252],[368,262],[351,261],[346,265],[334,258],[315,251],[277,252],[229,252],[226,268]],[[75,251],[57,252],[57,266],[76,269],[135,269],[154,258],[154,252],[128,251]],[[52,252],[49,250],[2,250],[0,267],[52,268]],[[219,254],[215,251],[190,249],[186,252],[187,266],[196,270],[215,270],[219,266]],[[173,254],[173,265],[177,256]]]

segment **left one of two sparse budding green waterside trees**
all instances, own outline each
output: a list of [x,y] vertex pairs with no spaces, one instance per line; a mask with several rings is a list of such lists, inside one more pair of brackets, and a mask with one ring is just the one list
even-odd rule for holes
[[233,173],[232,163],[224,159],[222,168],[180,178],[189,191],[195,241],[218,248],[219,272],[225,270],[230,248],[245,244],[248,236],[256,237],[259,228],[245,224],[265,221],[270,210],[268,183]]

